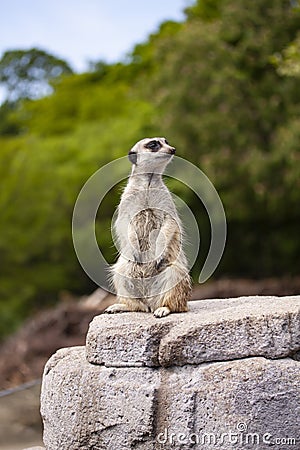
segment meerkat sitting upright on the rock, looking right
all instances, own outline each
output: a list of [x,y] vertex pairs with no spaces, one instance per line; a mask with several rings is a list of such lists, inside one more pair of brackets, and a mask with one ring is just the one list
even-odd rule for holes
[[175,148],[146,138],[129,151],[132,171],[117,209],[119,257],[111,267],[117,303],[106,313],[152,312],[164,317],[188,310],[191,278],[182,225],[162,174]]

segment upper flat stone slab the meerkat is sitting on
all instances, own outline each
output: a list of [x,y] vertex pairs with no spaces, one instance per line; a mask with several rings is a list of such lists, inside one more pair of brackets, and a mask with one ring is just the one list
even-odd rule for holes
[[300,296],[190,302],[188,313],[101,315],[87,335],[87,359],[106,367],[182,366],[300,350]]

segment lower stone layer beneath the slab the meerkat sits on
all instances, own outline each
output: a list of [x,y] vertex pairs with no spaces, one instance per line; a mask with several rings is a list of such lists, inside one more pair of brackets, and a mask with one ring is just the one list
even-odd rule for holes
[[59,351],[42,388],[47,450],[299,448],[300,364],[262,357],[170,368]]

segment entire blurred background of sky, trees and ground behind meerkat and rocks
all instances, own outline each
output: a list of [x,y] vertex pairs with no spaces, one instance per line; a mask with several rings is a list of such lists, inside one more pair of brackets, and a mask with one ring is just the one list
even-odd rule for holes
[[[46,359],[59,347],[82,345],[93,315],[114,301],[94,292],[77,261],[72,211],[89,176],[139,139],[165,136],[223,201],[225,252],[213,278],[195,285],[194,298],[300,294],[299,2],[106,3],[2,6],[1,450],[41,442]],[[186,186],[168,185],[201,230],[196,280],[209,219]],[[109,262],[120,189],[97,218]]]

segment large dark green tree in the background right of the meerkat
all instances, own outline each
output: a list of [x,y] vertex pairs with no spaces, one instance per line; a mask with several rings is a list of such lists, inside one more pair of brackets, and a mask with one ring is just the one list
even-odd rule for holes
[[221,194],[229,222],[222,273],[296,273],[299,81],[278,73],[272,57],[296,42],[300,10],[290,0],[222,0],[203,18],[205,4],[215,2],[198,0],[154,52],[164,57],[149,83],[155,126]]

